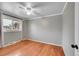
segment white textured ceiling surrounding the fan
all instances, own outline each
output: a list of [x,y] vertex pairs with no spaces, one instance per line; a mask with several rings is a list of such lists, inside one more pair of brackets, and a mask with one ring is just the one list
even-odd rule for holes
[[26,12],[19,8],[28,2],[1,2],[0,9],[15,14],[21,18],[37,18],[48,15],[59,14],[62,12],[65,2],[29,2],[33,9],[36,9],[35,15],[27,15]]

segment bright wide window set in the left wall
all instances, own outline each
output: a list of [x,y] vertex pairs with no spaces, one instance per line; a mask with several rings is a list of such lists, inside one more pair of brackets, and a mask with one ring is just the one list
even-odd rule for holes
[[21,31],[21,21],[13,19],[3,19],[4,31]]

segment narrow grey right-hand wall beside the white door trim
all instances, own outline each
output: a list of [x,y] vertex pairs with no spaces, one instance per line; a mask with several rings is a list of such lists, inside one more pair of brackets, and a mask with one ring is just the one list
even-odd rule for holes
[[75,39],[75,8],[74,3],[68,3],[63,14],[63,47],[65,55],[74,55],[74,49],[71,44],[74,44]]

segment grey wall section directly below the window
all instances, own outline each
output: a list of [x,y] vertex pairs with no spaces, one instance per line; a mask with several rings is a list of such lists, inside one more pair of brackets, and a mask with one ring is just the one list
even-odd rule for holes
[[21,39],[21,31],[18,32],[5,32],[4,33],[4,45],[16,42]]

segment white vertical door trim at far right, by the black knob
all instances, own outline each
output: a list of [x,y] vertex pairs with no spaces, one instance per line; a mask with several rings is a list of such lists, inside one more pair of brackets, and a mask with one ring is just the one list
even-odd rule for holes
[[79,2],[75,2],[75,44],[78,45],[75,56],[79,56]]

